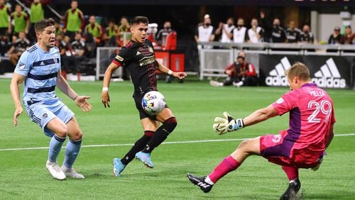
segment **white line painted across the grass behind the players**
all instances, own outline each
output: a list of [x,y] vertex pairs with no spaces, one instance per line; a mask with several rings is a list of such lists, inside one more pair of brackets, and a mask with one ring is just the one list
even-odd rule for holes
[[[335,134],[334,137],[354,136],[354,135],[355,135],[355,133],[344,133],[344,134]],[[162,145],[187,144],[187,143],[218,143],[218,142],[229,142],[229,141],[241,141],[241,140],[248,140],[248,139],[251,139],[251,138],[177,141],[177,142],[162,143]],[[131,146],[131,145],[133,145],[133,144],[82,145],[82,148],[121,147],[121,146]],[[63,147],[63,148],[65,148],[65,147]],[[48,147],[43,147],[43,148],[9,148],[9,149],[0,149],[0,151],[13,151],[13,150],[48,150]]]

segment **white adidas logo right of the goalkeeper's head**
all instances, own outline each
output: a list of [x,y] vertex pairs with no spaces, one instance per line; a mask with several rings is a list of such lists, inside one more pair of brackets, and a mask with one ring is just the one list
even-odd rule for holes
[[312,78],[312,82],[319,87],[345,88],[345,79],[340,76],[333,58],[329,58],[325,63],[325,65],[320,67],[319,71],[315,72],[315,78]]

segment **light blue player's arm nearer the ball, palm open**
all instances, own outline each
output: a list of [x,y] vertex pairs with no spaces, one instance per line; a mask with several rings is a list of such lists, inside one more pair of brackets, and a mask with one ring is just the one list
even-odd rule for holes
[[82,109],[82,111],[87,112],[91,111],[92,106],[87,102],[87,99],[90,99],[90,96],[79,96],[67,83],[67,80],[65,80],[64,77],[61,75],[61,71],[59,71],[58,74],[58,79],[57,79],[57,86],[58,88],[67,96],[70,97],[70,99],[75,101],[75,104]]

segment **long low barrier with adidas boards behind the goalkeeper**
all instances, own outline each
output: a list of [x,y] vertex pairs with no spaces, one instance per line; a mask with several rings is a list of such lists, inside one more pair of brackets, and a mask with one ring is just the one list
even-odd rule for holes
[[199,50],[200,79],[226,77],[224,68],[234,62],[240,50],[253,63],[259,83],[288,86],[285,70],[295,62],[310,68],[312,82],[325,88],[353,88],[355,45],[297,45],[286,43],[199,43],[211,47]]

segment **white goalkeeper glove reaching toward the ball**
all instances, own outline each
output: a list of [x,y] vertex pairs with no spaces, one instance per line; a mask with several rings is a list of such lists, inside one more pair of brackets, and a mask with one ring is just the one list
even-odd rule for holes
[[223,135],[224,133],[238,130],[240,128],[244,128],[244,121],[242,118],[234,119],[229,113],[223,113],[224,118],[216,117],[214,118],[213,129],[219,135]]

